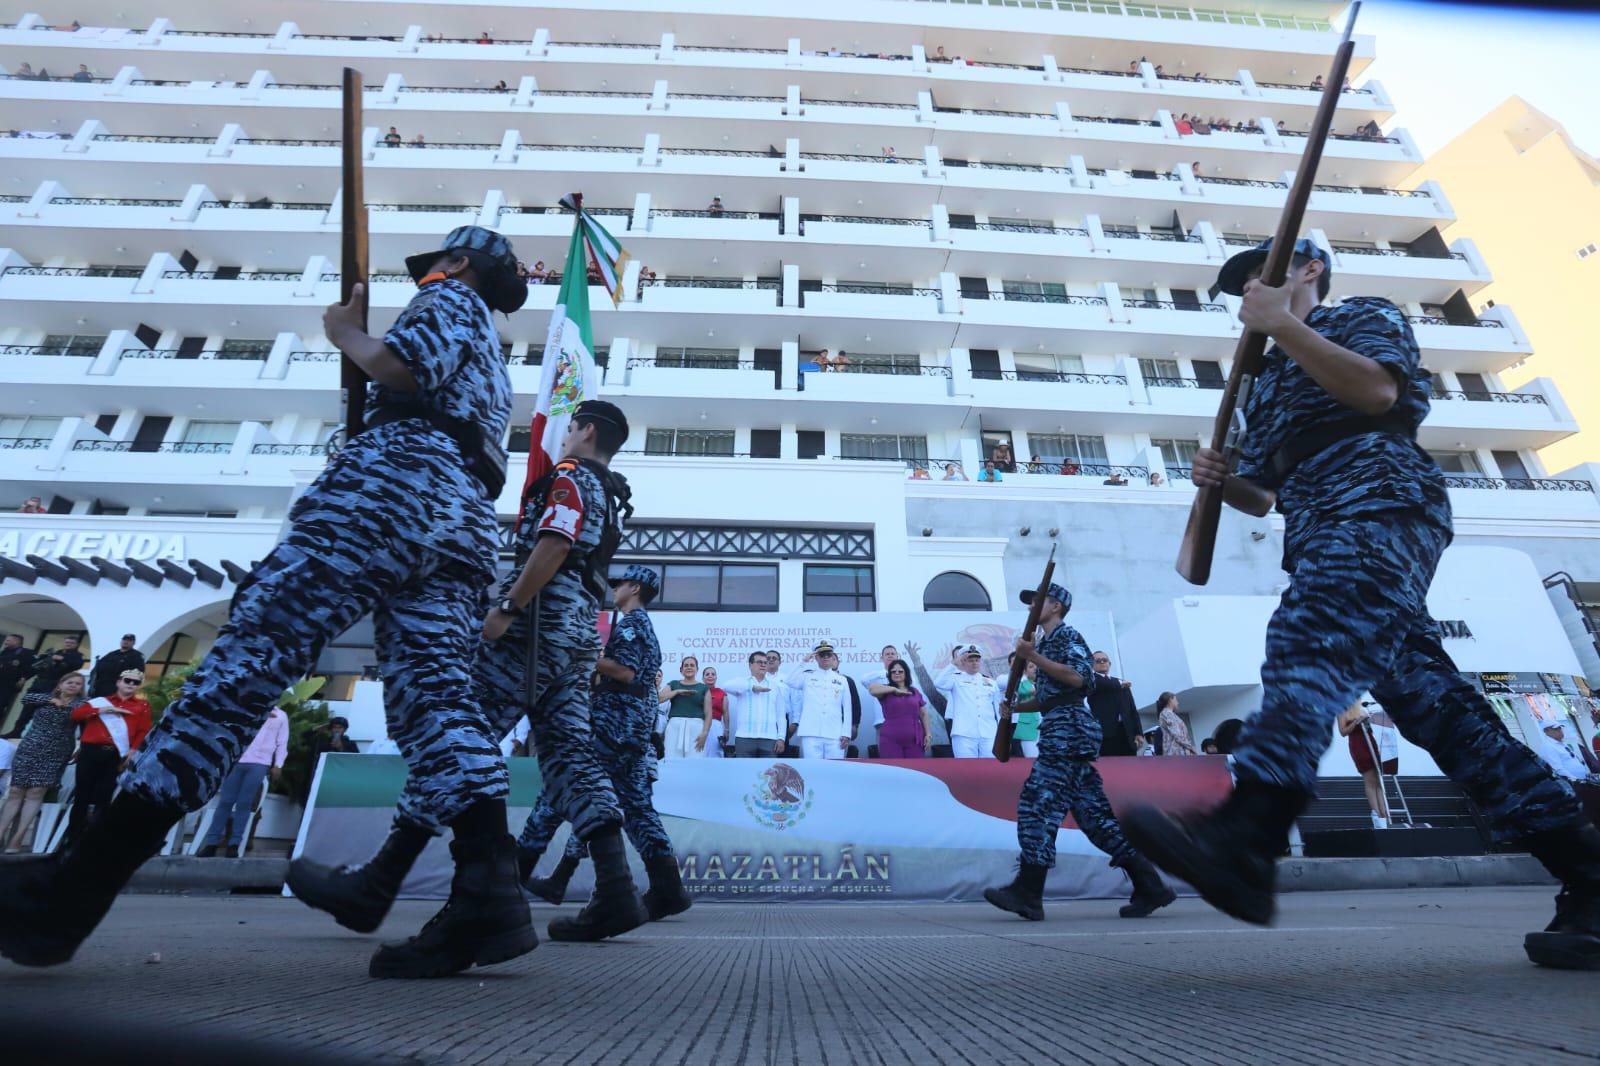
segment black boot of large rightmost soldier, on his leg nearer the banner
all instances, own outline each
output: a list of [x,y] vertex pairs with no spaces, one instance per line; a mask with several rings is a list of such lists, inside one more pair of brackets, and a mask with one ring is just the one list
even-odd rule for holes
[[1194,885],[1218,911],[1270,925],[1277,912],[1277,860],[1307,804],[1309,792],[1240,779],[1213,810],[1174,818],[1141,805],[1120,821],[1133,847]]

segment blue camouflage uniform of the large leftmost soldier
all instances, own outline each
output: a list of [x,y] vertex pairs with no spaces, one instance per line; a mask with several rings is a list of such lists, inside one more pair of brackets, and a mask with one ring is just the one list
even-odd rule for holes
[[126,792],[203,805],[283,690],[371,613],[408,792],[440,823],[507,794],[499,733],[470,671],[494,573],[494,501],[445,431],[421,418],[378,424],[421,407],[498,442],[512,405],[499,336],[483,299],[445,279],[418,291],[384,343],[418,392],[370,389],[374,427],[328,463],[290,512],[288,535],[240,583],[211,651],[122,775]]

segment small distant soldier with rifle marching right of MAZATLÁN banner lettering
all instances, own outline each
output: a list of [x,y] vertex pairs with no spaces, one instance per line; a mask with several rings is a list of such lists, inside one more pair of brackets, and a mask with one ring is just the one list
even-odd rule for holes
[[[1022,603],[1034,602],[1034,589],[1022,591]],[[1110,856],[1133,880],[1133,896],[1123,904],[1122,917],[1147,917],[1176,900],[1150,861],[1133,850],[1122,834],[1094,759],[1099,755],[1099,719],[1088,709],[1088,679],[1093,671],[1090,645],[1066,624],[1072,594],[1066,586],[1051,584],[1038,623],[1043,635],[1035,647],[1022,634],[1016,655],[1038,666],[1034,699],[1018,706],[1002,706],[1003,714],[1040,711],[1038,759],[1022,784],[1016,805],[1016,839],[1022,861],[1016,879],[1002,888],[986,888],[984,900],[1002,911],[1011,911],[1032,922],[1045,917],[1045,877],[1056,864],[1056,831],[1070,810],[1090,844]]]

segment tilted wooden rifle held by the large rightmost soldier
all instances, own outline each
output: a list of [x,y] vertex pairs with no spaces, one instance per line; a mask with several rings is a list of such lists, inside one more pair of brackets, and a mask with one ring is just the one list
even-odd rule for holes
[[[1322,104],[1317,107],[1317,118],[1306,136],[1306,152],[1301,155],[1299,168],[1294,171],[1294,184],[1290,187],[1288,205],[1278,219],[1278,230],[1272,237],[1272,250],[1261,269],[1262,285],[1283,285],[1290,264],[1294,258],[1294,242],[1299,238],[1301,222],[1306,219],[1306,203],[1310,200],[1312,186],[1317,182],[1317,165],[1322,162],[1322,149],[1328,142],[1328,130],[1333,126],[1333,112],[1339,106],[1339,94],[1344,91],[1344,78],[1350,69],[1350,56],[1355,42],[1350,34],[1355,30],[1355,16],[1362,10],[1360,0],[1350,5],[1350,18],[1344,26],[1344,37],[1333,54],[1333,69],[1322,90]],[[1250,400],[1250,387],[1266,362],[1267,335],[1245,330],[1234,349],[1234,368],[1227,375],[1227,387],[1222,392],[1222,405],[1218,408],[1216,423],[1211,427],[1211,447],[1222,453],[1227,469],[1232,471],[1238,461],[1238,450],[1246,431],[1243,408]],[[1275,493],[1242,477],[1229,475],[1226,495],[1229,503],[1246,514],[1264,515],[1272,509]],[[1178,573],[1190,584],[1205,584],[1211,579],[1211,557],[1216,554],[1216,528],[1222,520],[1224,487],[1197,487],[1194,504],[1189,509],[1189,525],[1184,528],[1184,543],[1178,549]]]

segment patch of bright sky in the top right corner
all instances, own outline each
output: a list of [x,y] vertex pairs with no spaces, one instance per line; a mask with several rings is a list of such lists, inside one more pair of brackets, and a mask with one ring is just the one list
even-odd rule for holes
[[1366,0],[1357,32],[1378,38],[1376,59],[1357,82],[1384,83],[1395,104],[1386,126],[1410,130],[1424,155],[1507,96],[1522,96],[1600,155],[1600,13]]

